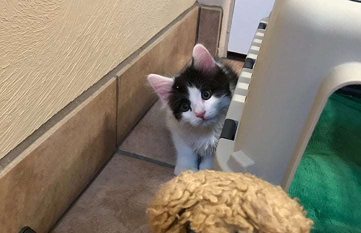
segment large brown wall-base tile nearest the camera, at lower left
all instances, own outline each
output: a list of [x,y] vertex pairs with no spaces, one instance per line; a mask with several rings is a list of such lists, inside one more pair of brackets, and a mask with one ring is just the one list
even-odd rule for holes
[[115,100],[112,78],[0,171],[4,232],[47,232],[59,219],[116,150]]

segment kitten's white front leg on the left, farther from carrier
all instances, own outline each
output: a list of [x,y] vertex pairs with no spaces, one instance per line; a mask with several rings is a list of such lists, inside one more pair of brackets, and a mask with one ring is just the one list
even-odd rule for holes
[[183,171],[198,171],[198,156],[193,149],[188,146],[177,133],[172,133],[174,146],[177,150],[177,163],[174,174],[179,175]]

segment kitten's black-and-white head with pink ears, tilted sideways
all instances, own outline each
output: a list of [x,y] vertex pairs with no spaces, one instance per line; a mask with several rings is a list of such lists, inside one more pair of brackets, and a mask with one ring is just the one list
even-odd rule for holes
[[148,80],[174,117],[195,127],[217,122],[231,99],[227,74],[200,44],[192,64],[175,78],[150,74]]

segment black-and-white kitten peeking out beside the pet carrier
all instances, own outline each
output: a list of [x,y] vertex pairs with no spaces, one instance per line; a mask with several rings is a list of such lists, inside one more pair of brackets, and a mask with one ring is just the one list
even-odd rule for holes
[[167,126],[177,151],[175,175],[212,169],[237,80],[232,69],[216,62],[200,44],[193,49],[192,64],[176,77],[148,75],[167,110]]

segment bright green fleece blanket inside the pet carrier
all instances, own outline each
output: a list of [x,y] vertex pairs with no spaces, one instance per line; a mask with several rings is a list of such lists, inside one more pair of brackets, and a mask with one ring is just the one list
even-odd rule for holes
[[361,233],[361,99],[331,95],[289,195],[314,221],[312,232]]

